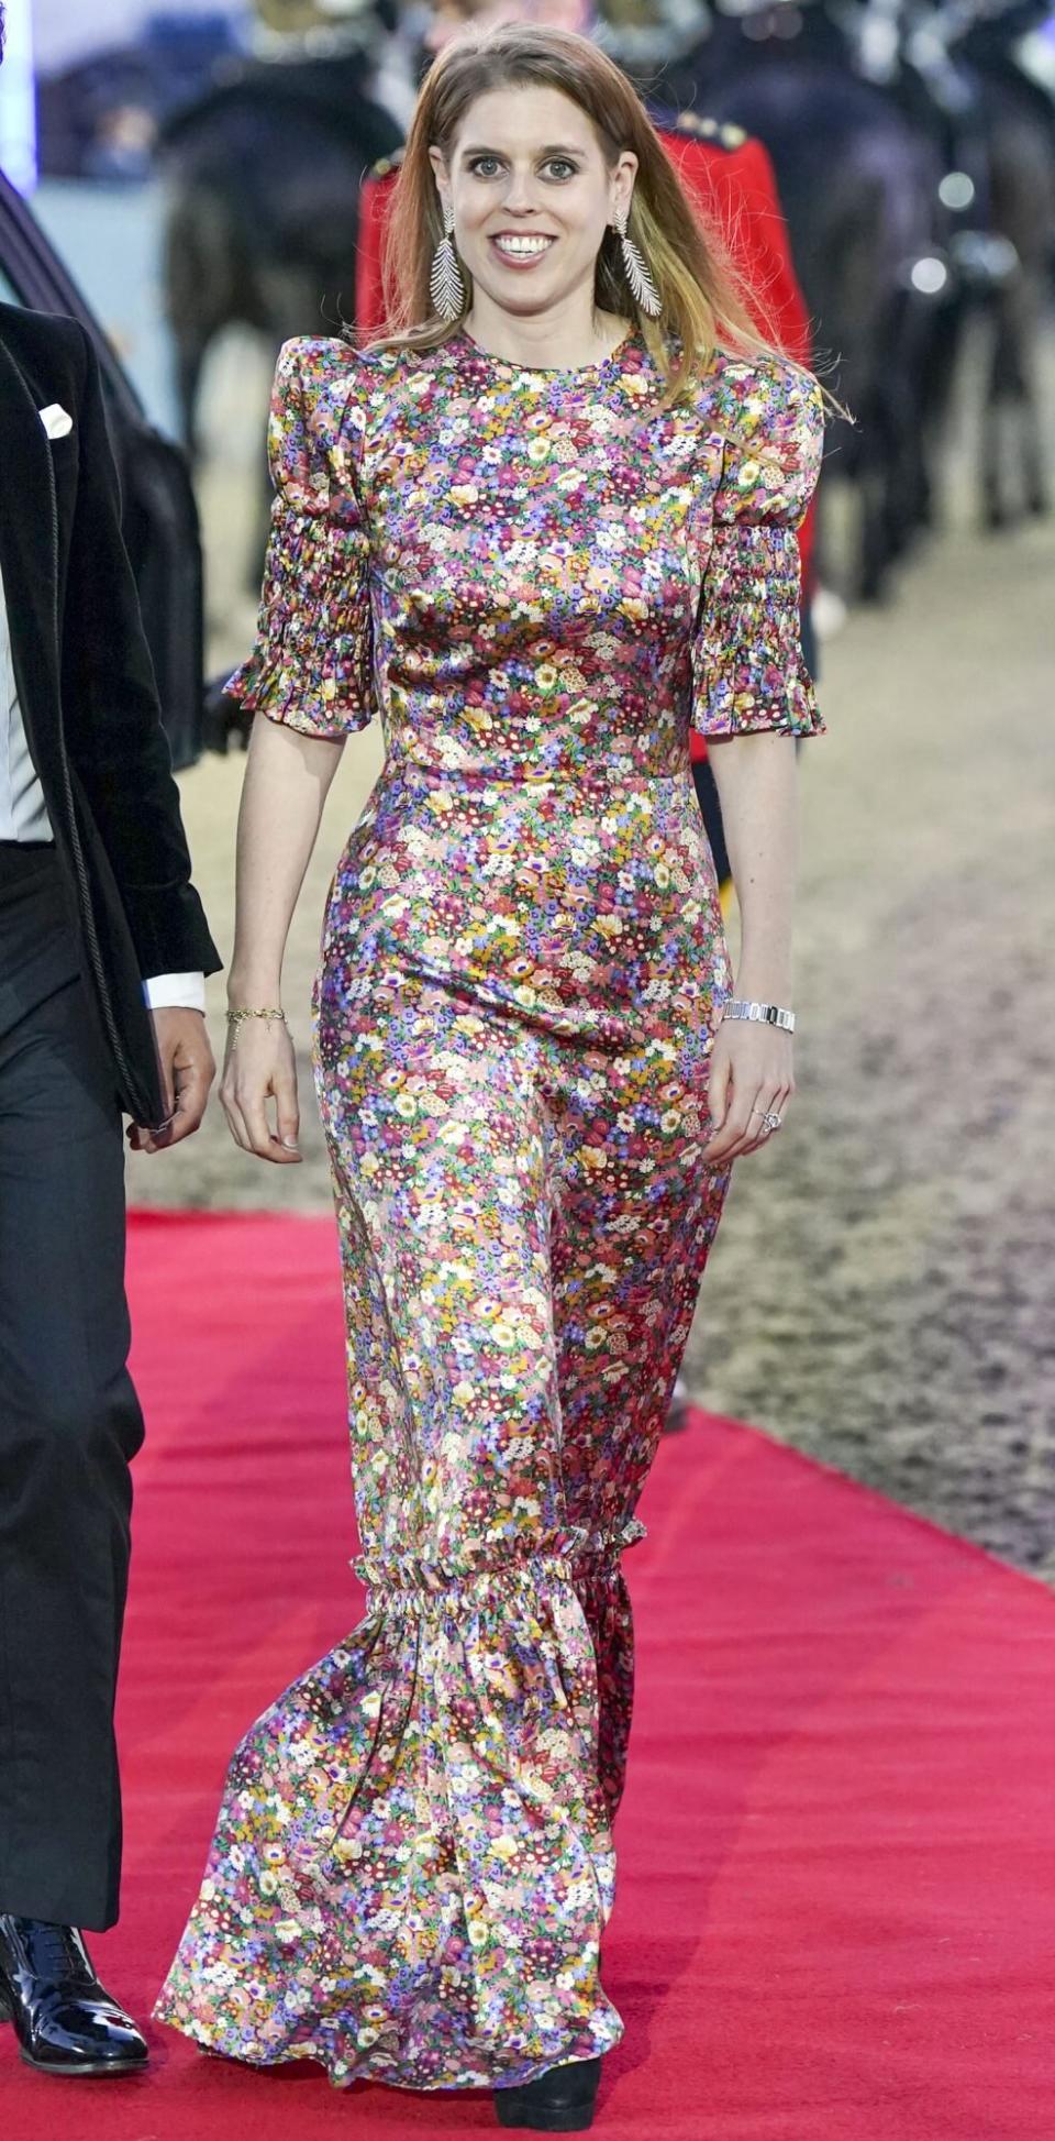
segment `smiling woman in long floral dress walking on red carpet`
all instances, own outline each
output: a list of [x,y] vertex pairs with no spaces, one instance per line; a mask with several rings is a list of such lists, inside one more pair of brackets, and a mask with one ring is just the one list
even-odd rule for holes
[[282,948],[377,702],[317,983],[368,1616],[240,1747],[158,2013],[563,2132],[621,2034],[618,1557],[730,1163],[792,1094],[790,1034],[730,1019],[689,719],[736,991],[783,1015],[820,396],[578,36],[437,60],[394,242],[402,334],[278,364],[225,1073],[238,1141],[295,1158]]

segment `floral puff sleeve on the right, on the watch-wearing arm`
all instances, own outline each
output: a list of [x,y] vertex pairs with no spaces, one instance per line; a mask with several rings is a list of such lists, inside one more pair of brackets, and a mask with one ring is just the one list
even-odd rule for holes
[[730,364],[713,546],[693,638],[691,726],[704,737],[824,730],[800,647],[796,529],[824,447],[820,390],[785,364]]

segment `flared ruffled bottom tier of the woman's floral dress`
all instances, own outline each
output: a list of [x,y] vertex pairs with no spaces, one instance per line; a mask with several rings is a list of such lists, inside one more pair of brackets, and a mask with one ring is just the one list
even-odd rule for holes
[[415,2090],[529,2081],[618,2040],[576,1582],[616,1589],[640,1535],[360,1563],[370,1614],[235,1753],[158,2021],[255,2066]]

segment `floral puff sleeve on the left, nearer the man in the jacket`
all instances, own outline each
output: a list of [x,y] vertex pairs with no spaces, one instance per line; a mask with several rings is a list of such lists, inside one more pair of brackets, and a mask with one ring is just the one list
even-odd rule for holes
[[248,713],[334,741],[366,728],[374,698],[362,430],[353,351],[285,343],[267,420],[274,501],[257,642],[225,689]]

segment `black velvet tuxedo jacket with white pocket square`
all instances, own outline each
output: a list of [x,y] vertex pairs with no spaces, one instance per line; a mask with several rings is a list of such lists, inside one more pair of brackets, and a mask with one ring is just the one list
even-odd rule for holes
[[[58,403],[73,430],[49,439]],[[30,756],[88,998],[122,1107],[156,1126],[152,974],[220,966],[190,884],[180,794],[120,531],[90,336],[0,304],[0,570]]]

